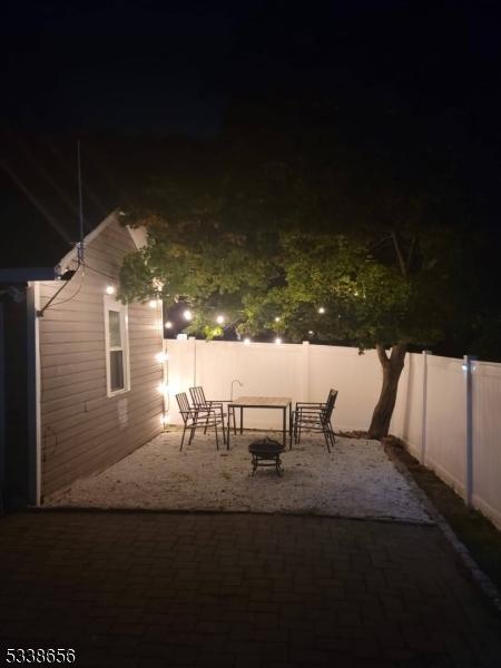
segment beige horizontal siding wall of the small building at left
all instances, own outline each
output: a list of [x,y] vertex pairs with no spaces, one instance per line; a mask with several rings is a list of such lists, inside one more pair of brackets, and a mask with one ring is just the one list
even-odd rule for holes
[[[106,286],[136,249],[118,222],[86,247],[81,269],[40,318],[42,497],[119,461],[161,430],[161,308],[129,304],[130,391],[106,391]],[[72,267],[76,263],[72,264]],[[42,283],[41,307],[61,287]]]

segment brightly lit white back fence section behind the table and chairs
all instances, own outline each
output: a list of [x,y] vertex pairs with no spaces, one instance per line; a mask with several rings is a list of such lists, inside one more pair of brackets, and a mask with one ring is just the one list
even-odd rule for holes
[[[356,348],[310,344],[169,341],[169,403],[179,423],[176,392],[203,385],[207,397],[239,394],[291,396],[296,401],[324,401],[331,387],[338,390],[336,429],[367,429],[381,390],[381,366],[375,351],[358,355]],[[276,411],[249,411],[248,426],[278,426]]]

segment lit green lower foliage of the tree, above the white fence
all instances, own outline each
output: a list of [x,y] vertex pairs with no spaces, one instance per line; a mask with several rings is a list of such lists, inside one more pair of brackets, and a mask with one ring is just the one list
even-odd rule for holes
[[189,331],[207,338],[223,334],[214,324],[219,310],[242,334],[279,333],[287,341],[313,331],[317,341],[366,348],[402,341],[429,345],[440,337],[446,263],[433,255],[430,235],[422,246],[400,239],[419,253],[416,268],[406,274],[394,250],[390,259],[386,248],[380,257],[371,252],[372,235],[283,229],[265,245],[259,235],[214,226],[208,235],[155,218],[146,249],[126,258],[121,296],[146,299],[158,294],[160,281],[163,298],[186,299],[197,313]]

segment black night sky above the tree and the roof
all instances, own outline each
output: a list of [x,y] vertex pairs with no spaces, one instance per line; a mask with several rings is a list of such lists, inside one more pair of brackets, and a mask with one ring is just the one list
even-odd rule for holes
[[[365,132],[385,150],[380,106],[390,125],[393,108],[395,119],[404,109],[404,140],[413,124],[430,126],[430,140],[456,159],[475,217],[499,227],[499,13],[493,0],[10,2],[0,21],[0,163],[45,190],[72,237],[75,210],[59,212],[47,174],[76,202],[77,137],[95,224],[173,160],[174,135],[210,140],[235,109],[252,117],[256,100],[278,102],[277,132],[288,131],[284,100],[344,105],[338,131],[358,143]],[[0,194],[2,219],[40,214],[6,168]]]

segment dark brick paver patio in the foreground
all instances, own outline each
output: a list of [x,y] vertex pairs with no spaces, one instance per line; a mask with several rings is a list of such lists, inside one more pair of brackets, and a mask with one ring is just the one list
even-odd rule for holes
[[0,520],[0,665],[501,666],[501,620],[431,525],[27,512]]

